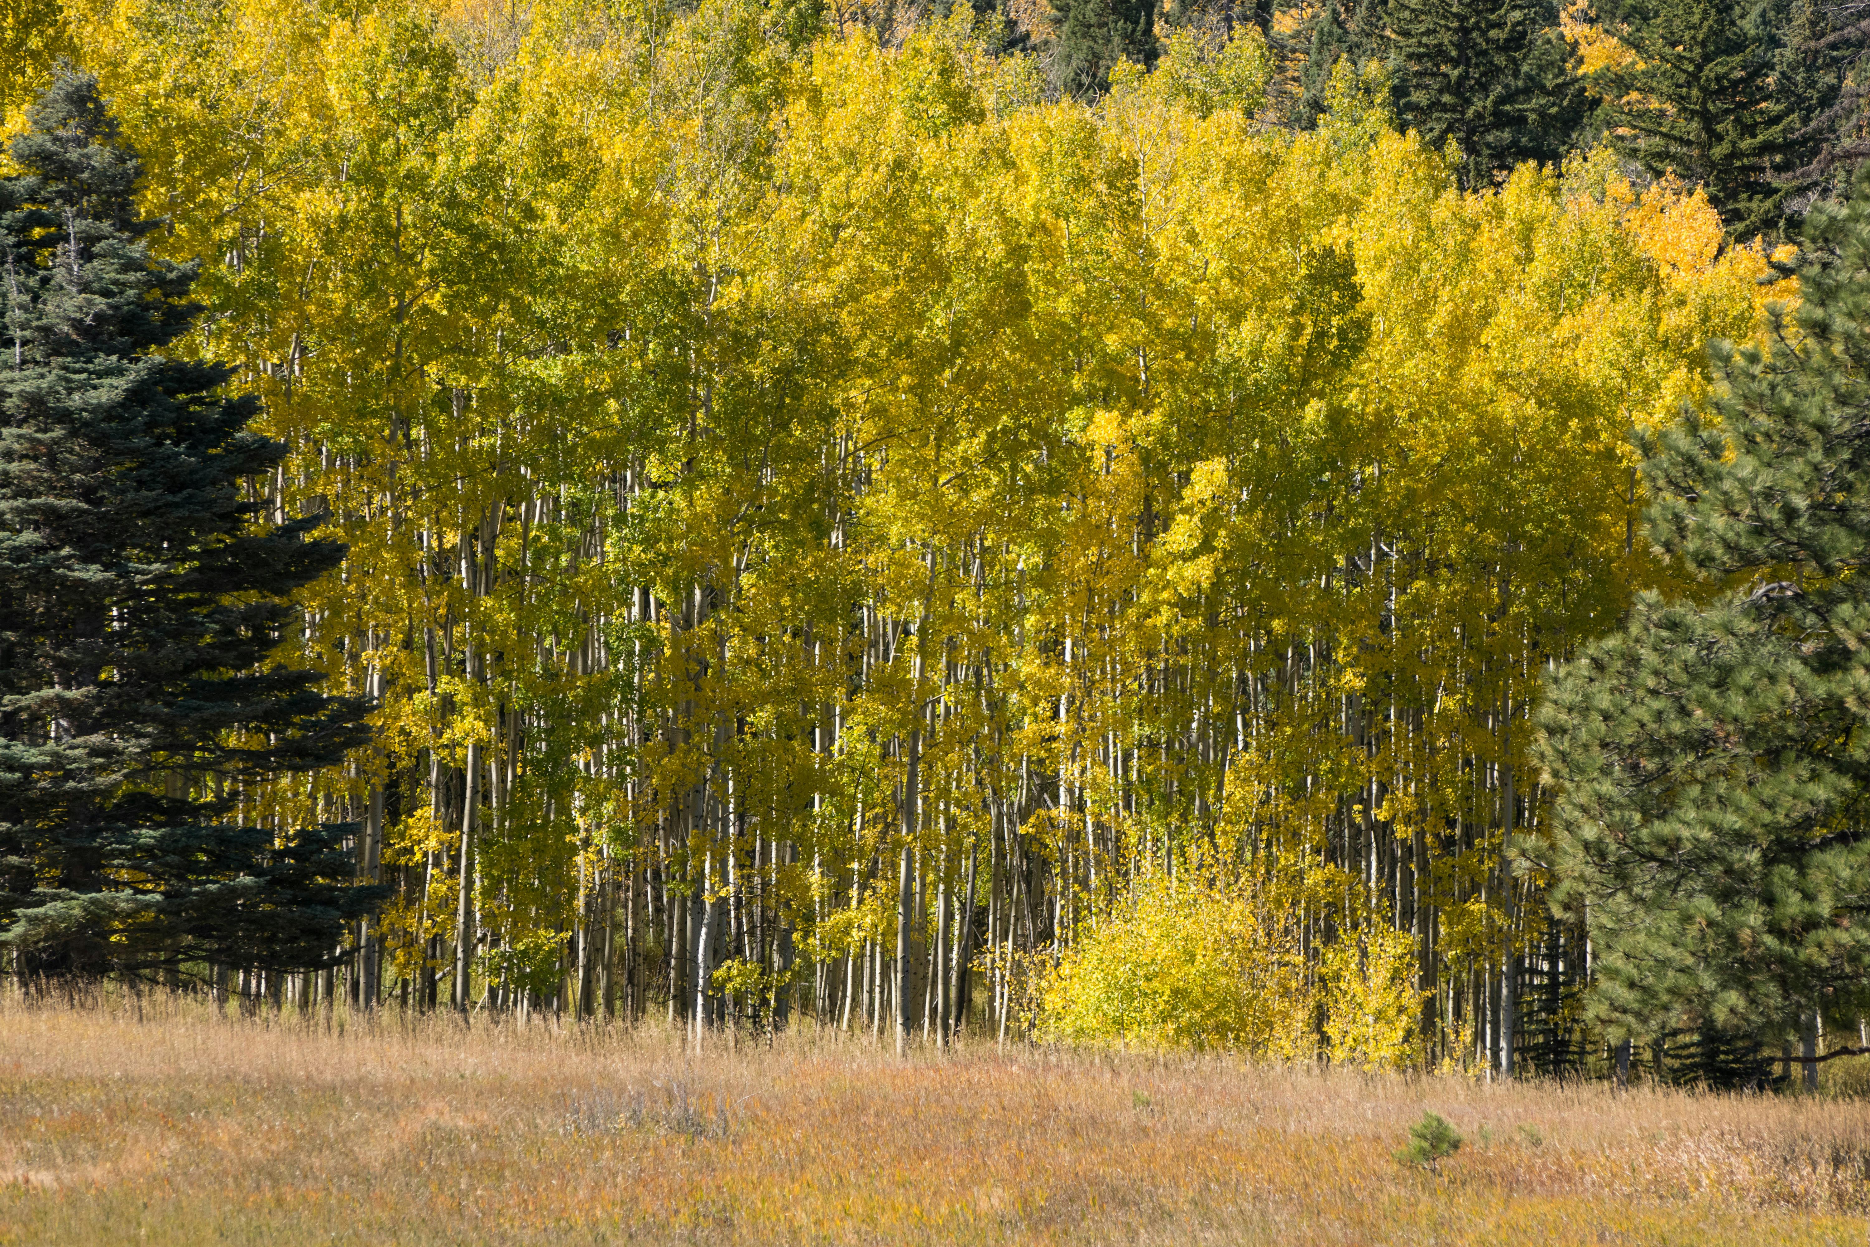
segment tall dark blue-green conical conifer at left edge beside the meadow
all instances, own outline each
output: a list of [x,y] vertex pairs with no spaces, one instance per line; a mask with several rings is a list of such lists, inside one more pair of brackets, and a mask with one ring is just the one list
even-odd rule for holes
[[30,974],[309,967],[374,901],[344,826],[226,821],[228,787],[338,763],[363,705],[267,667],[282,596],[344,548],[256,527],[284,454],[230,370],[159,351],[193,265],[151,260],[137,155],[64,71],[0,183],[0,940]]

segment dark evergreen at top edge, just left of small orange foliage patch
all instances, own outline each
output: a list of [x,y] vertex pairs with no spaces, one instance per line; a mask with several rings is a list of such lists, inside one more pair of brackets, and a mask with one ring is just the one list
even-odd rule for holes
[[1391,0],[1389,24],[1397,116],[1455,144],[1464,187],[1569,150],[1586,105],[1550,0]]

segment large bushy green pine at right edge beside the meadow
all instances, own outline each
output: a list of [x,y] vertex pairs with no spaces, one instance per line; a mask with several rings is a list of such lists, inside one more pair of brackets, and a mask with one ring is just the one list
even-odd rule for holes
[[1705,600],[1640,596],[1548,682],[1528,845],[1603,1017],[1741,1071],[1870,983],[1870,178],[1797,277],[1765,351],[1717,353],[1711,415],[1642,441],[1649,537]]

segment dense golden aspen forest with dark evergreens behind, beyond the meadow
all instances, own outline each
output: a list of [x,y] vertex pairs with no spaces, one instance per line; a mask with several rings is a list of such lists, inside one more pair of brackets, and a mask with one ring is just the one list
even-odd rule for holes
[[166,783],[393,899],[198,976],[1603,1068],[1530,710],[1698,591],[1629,434],[1795,297],[1855,9],[9,6],[348,542],[374,742]]

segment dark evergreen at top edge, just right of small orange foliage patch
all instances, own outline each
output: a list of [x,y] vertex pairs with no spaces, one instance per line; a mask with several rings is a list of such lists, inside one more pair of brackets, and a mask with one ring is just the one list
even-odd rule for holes
[[1786,15],[1743,0],[1627,0],[1610,13],[1636,58],[1606,71],[1612,133],[1651,174],[1707,189],[1735,236],[1795,221],[1788,172],[1803,165]]

